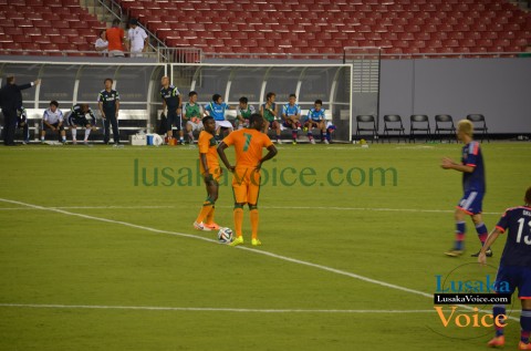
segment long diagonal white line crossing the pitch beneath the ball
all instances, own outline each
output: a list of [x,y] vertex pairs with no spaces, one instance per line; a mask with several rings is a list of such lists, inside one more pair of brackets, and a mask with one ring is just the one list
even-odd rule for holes
[[[13,205],[19,205],[19,206],[27,206],[27,207],[31,207],[31,208],[35,208],[35,209],[54,211],[54,213],[59,213],[59,214],[63,214],[63,215],[66,215],[66,216],[72,216],[72,217],[81,217],[81,218],[92,219],[92,220],[97,220],[97,221],[112,223],[112,224],[122,225],[122,226],[129,227],[129,228],[135,228],[135,229],[142,229],[142,230],[146,230],[146,231],[150,231],[150,233],[167,234],[167,235],[173,235],[173,236],[177,236],[177,237],[209,241],[209,242],[215,242],[215,244],[219,245],[219,242],[217,240],[200,237],[200,236],[197,236],[197,235],[191,235],[191,234],[162,230],[162,229],[156,229],[156,228],[152,228],[152,227],[134,225],[134,224],[131,224],[131,223],[127,223],[127,221],[113,220],[113,219],[95,217],[95,216],[90,216],[90,215],[84,215],[84,214],[76,214],[76,213],[66,211],[64,209],[49,208],[49,207],[43,207],[43,206],[39,206],[39,205],[15,202],[15,200],[6,199],[6,198],[0,198],[0,202],[8,203],[8,204],[13,204]],[[398,290],[398,291],[404,291],[404,292],[409,292],[412,295],[423,296],[425,298],[433,299],[433,295],[420,291],[420,290],[409,289],[409,288],[402,287],[402,286],[398,286],[398,285],[385,282],[385,281],[377,280],[377,279],[372,279],[372,278],[360,276],[360,275],[356,275],[356,273],[352,273],[352,272],[348,272],[348,271],[345,271],[345,270],[335,269],[335,268],[332,268],[332,267],[317,265],[317,264],[313,264],[313,262],[310,262],[310,261],[304,261],[304,260],[300,260],[300,259],[296,259],[296,258],[291,258],[291,257],[288,257],[288,256],[277,255],[277,254],[269,252],[269,251],[253,249],[253,248],[250,248],[250,247],[237,246],[235,248],[240,249],[240,250],[244,250],[244,251],[249,251],[249,252],[253,252],[253,254],[259,254],[259,255],[277,258],[277,259],[284,260],[284,261],[288,261],[288,262],[292,262],[292,264],[295,264],[295,265],[312,267],[312,268],[316,268],[316,269],[320,269],[320,270],[333,272],[333,273],[336,273],[336,275],[340,275],[340,276],[354,278],[354,279],[362,280],[362,281],[365,281],[365,282],[371,282],[371,283],[374,283],[374,285],[377,285],[377,286],[381,286],[381,287],[385,287],[385,288],[389,288],[389,289],[394,289],[394,290]],[[469,307],[469,306],[461,306],[460,304],[459,307],[468,309],[468,310],[472,310],[472,307]],[[513,317],[509,317],[509,318],[514,319]]]

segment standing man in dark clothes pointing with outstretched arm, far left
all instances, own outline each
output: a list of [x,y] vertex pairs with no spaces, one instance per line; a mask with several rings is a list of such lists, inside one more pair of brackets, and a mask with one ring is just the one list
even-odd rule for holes
[[17,126],[17,109],[22,106],[22,93],[24,89],[39,85],[41,80],[34,82],[17,85],[14,84],[14,75],[7,79],[8,84],[0,90],[0,107],[3,113],[3,144],[6,146],[14,146],[14,130]]

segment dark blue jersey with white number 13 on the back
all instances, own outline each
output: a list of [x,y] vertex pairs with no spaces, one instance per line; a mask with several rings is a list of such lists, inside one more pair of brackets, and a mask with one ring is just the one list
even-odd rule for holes
[[507,209],[496,227],[509,229],[500,266],[531,267],[531,207]]

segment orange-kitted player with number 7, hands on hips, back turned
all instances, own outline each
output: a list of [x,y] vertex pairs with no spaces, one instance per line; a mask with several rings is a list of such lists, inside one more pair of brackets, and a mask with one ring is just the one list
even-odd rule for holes
[[[258,114],[251,114],[249,118],[250,127],[230,133],[218,146],[218,154],[225,166],[232,172],[232,190],[235,194],[235,231],[236,238],[230,244],[237,246],[243,244],[241,227],[243,224],[243,205],[249,205],[251,217],[251,230],[253,246],[262,245],[258,239],[258,194],[260,193],[260,168],[262,164],[277,155],[277,148],[271,143],[267,134],[261,133],[263,128],[263,117]],[[233,145],[236,151],[236,166],[232,166],[225,149]],[[262,148],[268,149],[268,154],[262,157]]]

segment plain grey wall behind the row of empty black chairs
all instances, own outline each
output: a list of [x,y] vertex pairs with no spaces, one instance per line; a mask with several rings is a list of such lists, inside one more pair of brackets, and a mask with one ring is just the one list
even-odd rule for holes
[[399,114],[481,113],[491,133],[531,133],[531,59],[383,60],[379,122]]

